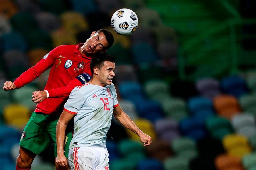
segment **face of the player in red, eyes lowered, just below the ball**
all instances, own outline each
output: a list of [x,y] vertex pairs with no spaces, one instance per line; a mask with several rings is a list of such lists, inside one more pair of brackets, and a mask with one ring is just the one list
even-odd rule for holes
[[97,53],[105,52],[108,46],[108,41],[105,35],[100,32],[92,32],[91,37],[86,40],[84,45],[80,48],[80,52],[83,55],[94,55]]

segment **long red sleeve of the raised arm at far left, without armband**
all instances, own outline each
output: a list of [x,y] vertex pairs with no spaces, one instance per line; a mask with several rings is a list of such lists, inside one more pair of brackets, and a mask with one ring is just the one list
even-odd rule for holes
[[47,69],[49,69],[55,61],[56,55],[55,52],[58,50],[58,47],[53,49],[51,52],[46,54],[35,66],[29,68],[27,71],[22,73],[13,83],[17,88],[21,88],[24,85],[32,82]]

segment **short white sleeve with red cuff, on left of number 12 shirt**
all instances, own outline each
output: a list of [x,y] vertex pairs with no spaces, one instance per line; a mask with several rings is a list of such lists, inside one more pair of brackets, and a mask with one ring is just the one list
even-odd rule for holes
[[83,96],[83,93],[75,87],[69,97],[67,102],[64,105],[64,110],[66,112],[72,113],[72,114],[77,114],[77,112],[81,109],[85,102],[85,98]]

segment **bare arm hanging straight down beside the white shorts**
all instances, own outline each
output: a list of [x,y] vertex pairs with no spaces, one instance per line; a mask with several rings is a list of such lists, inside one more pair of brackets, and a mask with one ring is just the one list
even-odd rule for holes
[[66,157],[64,155],[64,139],[65,130],[68,122],[74,117],[74,114],[63,110],[56,127],[56,142],[57,142],[57,158],[56,162],[59,166],[66,166]]

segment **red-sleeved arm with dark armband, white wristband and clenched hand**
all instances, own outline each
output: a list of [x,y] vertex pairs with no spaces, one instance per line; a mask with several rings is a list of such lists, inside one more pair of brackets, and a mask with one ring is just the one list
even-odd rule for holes
[[67,86],[60,87],[56,89],[44,90],[44,91],[34,91],[32,93],[32,101],[34,103],[40,103],[44,101],[45,98],[58,98],[58,97],[68,97],[71,91],[76,86],[81,86],[91,80],[91,72],[82,73],[78,75],[75,79],[71,80]]

